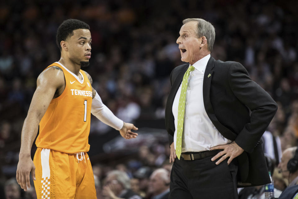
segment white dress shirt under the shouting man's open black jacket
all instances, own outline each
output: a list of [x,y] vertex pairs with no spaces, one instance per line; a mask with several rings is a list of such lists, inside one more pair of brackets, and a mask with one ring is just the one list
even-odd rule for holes
[[[209,119],[203,101],[203,79],[210,54],[200,59],[192,66],[195,69],[188,77],[188,87],[185,99],[184,132],[182,135],[182,152],[199,152],[210,150],[211,147],[231,143],[223,137]],[[172,112],[175,122],[174,146],[176,149],[178,104],[181,86],[174,99]]]

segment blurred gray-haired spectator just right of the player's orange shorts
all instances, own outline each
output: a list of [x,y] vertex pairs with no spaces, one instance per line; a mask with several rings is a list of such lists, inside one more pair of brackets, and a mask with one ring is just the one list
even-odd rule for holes
[[111,171],[104,184],[102,193],[105,199],[141,199],[130,189],[129,176],[123,171]]

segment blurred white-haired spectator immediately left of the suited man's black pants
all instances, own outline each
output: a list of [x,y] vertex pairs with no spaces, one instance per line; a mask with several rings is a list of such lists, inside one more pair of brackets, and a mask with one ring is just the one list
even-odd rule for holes
[[170,176],[166,169],[156,169],[150,176],[148,192],[151,199],[168,199],[170,195]]

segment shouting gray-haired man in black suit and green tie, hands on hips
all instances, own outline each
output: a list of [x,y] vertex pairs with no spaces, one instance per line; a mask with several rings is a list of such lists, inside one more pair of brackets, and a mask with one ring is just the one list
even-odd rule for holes
[[[171,148],[169,198],[238,198],[237,185],[270,182],[260,138],[277,110],[238,62],[210,56],[211,23],[186,19],[177,39],[166,111]],[[176,159],[178,156],[178,159]]]

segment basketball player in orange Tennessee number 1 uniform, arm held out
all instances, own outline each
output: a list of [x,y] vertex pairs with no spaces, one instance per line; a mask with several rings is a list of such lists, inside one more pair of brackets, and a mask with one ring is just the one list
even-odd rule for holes
[[[26,191],[31,172],[38,198],[96,198],[87,154],[90,113],[119,130],[125,139],[138,135],[131,131],[137,127],[124,123],[102,103],[92,78],[81,70],[91,58],[89,29],[88,24],[75,19],[59,26],[56,41],[61,59],[38,76],[23,125],[16,179]],[[38,148],[32,161],[30,151],[38,124]]]

